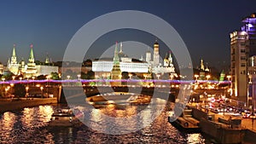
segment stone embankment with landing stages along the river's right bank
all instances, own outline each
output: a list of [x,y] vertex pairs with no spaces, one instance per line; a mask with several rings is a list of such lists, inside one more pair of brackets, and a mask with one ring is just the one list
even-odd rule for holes
[[201,132],[209,135],[218,143],[255,143],[256,131],[247,129],[249,124],[242,124],[247,119],[236,116],[220,115],[204,109],[189,107],[192,116],[200,121]]

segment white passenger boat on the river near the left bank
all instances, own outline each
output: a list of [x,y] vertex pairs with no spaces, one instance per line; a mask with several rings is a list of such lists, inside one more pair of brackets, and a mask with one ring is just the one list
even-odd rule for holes
[[49,126],[73,126],[79,123],[70,108],[57,108],[51,115]]

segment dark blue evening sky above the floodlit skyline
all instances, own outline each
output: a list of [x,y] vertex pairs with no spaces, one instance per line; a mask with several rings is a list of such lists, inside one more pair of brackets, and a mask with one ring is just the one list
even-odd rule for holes
[[[256,12],[256,1],[1,1],[0,61],[7,63],[14,43],[19,60],[28,59],[31,43],[36,60],[44,60],[46,53],[53,61],[62,60],[67,44],[80,27],[117,10],[140,10],[159,16],[183,38],[194,66],[203,58],[209,66],[219,67],[229,66],[230,32],[239,30],[242,18]],[[122,33],[125,32],[113,32],[113,37],[119,34],[116,40],[105,39],[112,44],[123,41]],[[145,37],[140,41],[150,45],[154,38]],[[111,44],[99,41],[96,45],[92,55],[85,59],[98,57],[96,53]]]

